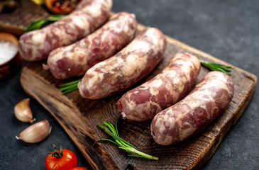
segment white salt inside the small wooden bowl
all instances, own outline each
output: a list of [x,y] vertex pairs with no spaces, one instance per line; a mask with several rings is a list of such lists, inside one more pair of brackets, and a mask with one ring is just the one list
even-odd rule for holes
[[13,44],[9,41],[0,41],[0,64],[4,64],[6,62],[9,62],[14,55],[16,55],[16,52],[18,51],[17,45]]

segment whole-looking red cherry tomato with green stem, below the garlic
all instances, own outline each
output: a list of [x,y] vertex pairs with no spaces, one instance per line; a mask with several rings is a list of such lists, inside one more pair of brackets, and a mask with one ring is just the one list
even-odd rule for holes
[[69,149],[57,150],[57,147],[53,145],[55,151],[48,154],[45,160],[45,166],[47,170],[65,170],[72,169],[77,166],[77,156]]

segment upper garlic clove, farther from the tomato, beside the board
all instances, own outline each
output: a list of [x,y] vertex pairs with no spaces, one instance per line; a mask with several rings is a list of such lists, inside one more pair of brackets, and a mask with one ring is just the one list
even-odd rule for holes
[[23,99],[17,103],[16,106],[14,106],[14,115],[16,115],[16,118],[22,122],[33,123],[35,118],[33,119],[33,113],[31,113],[29,103],[30,98]]

